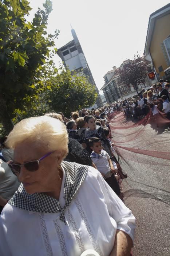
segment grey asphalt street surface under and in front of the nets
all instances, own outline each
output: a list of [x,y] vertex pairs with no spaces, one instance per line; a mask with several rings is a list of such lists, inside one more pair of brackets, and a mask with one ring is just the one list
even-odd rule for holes
[[[138,129],[138,128],[135,128]],[[120,130],[114,130],[120,132]],[[170,131],[146,125],[130,142],[112,132],[119,146],[170,153]],[[126,133],[135,131],[126,129]],[[125,131],[124,131],[125,133]],[[116,138],[115,138],[116,137]],[[150,143],[148,143],[150,142]],[[124,202],[136,217],[134,256],[170,256],[170,160],[124,152],[121,166],[128,174],[123,180]]]

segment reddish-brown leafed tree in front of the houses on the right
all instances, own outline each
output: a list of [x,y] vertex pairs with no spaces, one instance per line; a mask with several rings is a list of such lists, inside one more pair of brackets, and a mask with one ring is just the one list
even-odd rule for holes
[[147,64],[144,57],[140,57],[138,54],[134,55],[134,59],[124,64],[116,71],[119,75],[119,83],[126,86],[133,86],[138,94],[138,85],[145,83],[147,74]]

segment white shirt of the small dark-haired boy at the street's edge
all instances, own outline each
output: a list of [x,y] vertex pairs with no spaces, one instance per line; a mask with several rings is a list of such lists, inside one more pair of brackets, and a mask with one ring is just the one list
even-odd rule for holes
[[[99,170],[99,172],[104,174],[104,176],[106,178],[109,178],[112,176],[112,173],[110,173],[110,171],[111,171],[110,165],[108,163],[110,156],[108,155],[108,153],[105,150],[103,150],[103,151],[104,151],[104,155],[102,157],[92,158],[92,161],[94,162],[94,164],[97,167],[97,169]],[[113,163],[114,169],[117,169],[116,163],[113,161],[112,161],[112,163]]]

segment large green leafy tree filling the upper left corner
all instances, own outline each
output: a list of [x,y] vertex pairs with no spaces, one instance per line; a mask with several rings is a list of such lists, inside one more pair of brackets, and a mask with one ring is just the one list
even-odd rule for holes
[[44,88],[42,65],[59,31],[47,34],[52,2],[46,0],[43,7],[27,22],[25,17],[31,10],[27,0],[0,1],[0,121],[7,133],[13,128],[15,109],[30,105]]

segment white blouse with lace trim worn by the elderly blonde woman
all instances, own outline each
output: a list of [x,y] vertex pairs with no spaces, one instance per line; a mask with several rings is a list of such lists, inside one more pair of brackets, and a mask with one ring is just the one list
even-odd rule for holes
[[[64,170],[59,202],[64,206]],[[80,256],[94,249],[108,256],[116,229],[134,240],[135,217],[89,166],[86,178],[65,210],[66,224],[59,213],[38,213],[7,204],[0,215],[1,256]]]

